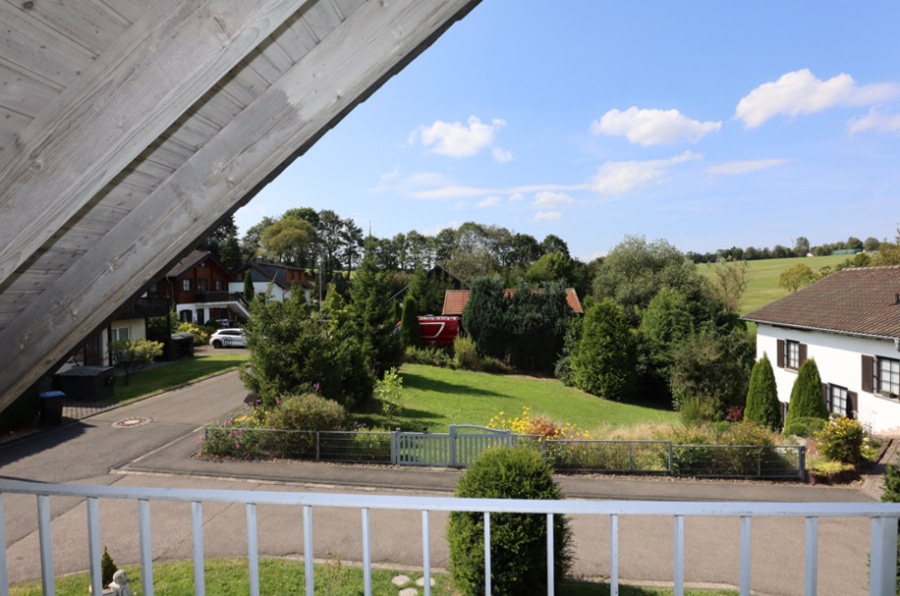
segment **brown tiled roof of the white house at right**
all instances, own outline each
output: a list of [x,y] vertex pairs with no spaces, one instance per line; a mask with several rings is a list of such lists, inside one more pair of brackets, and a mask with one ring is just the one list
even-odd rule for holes
[[743,318],[850,335],[900,337],[900,266],[844,269]]

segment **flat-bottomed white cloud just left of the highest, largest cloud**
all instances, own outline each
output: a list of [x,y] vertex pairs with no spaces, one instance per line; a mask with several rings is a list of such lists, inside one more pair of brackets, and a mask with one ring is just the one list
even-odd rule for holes
[[721,122],[691,120],[678,110],[643,110],[631,106],[624,112],[610,110],[591,123],[591,133],[626,137],[638,145],[697,142],[722,128]]

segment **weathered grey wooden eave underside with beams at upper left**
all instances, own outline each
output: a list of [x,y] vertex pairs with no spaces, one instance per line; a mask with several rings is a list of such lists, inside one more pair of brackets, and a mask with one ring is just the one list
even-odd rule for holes
[[0,410],[477,2],[0,0]]

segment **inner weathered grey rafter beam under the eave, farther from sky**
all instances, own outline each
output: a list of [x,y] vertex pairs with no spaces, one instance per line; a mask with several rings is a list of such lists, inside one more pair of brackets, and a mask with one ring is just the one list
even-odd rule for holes
[[[305,1],[151,3],[23,131],[20,150],[0,154],[0,228],[15,230],[0,249],[0,283]],[[34,40],[21,43],[10,51],[34,51]]]

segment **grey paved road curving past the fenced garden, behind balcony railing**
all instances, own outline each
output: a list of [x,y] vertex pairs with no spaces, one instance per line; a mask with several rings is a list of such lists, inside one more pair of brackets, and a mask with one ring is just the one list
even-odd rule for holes
[[[394,469],[310,463],[204,462],[191,457],[199,429],[242,405],[246,394],[228,373],[135,404],[108,410],[72,426],[0,447],[0,477],[42,482],[118,486],[229,488],[241,490],[446,495],[455,470]],[[122,421],[128,424],[122,425]],[[119,424],[116,424],[119,423]],[[140,424],[138,424],[140,423]],[[848,488],[753,482],[560,477],[569,498],[739,501],[871,501],[870,493]],[[8,561],[12,582],[39,577],[33,497],[6,495]],[[136,507],[101,504],[102,542],[119,564],[138,561]],[[418,512],[372,512],[374,562],[421,566]],[[155,560],[191,556],[190,508],[157,503],[152,510]],[[77,499],[53,500],[53,543],[57,573],[87,568],[86,515]],[[446,568],[445,516],[432,513],[432,564]],[[246,554],[242,507],[204,506],[206,555]],[[313,527],[317,558],[361,559],[359,513],[317,509]],[[609,523],[572,520],[577,558],[574,572],[609,573]],[[685,577],[704,584],[738,583],[738,522],[688,519]],[[260,508],[260,552],[302,553],[300,511]],[[669,518],[620,520],[620,577],[671,582],[673,523]],[[763,519],[753,525],[753,588],[763,594],[802,593],[803,520]],[[821,520],[819,587],[822,594],[867,593],[867,521]]]

